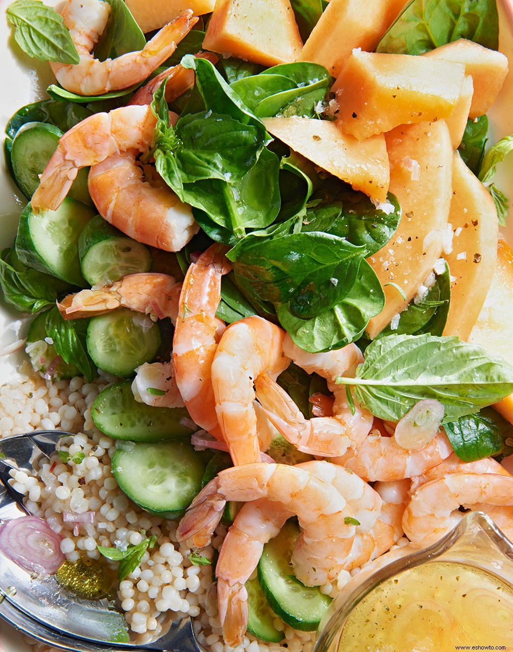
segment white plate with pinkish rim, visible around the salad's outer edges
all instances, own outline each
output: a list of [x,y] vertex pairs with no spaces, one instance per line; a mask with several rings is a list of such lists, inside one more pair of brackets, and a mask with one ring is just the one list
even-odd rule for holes
[[[502,0],[503,6],[499,7],[501,21],[499,49],[508,57],[512,72],[506,78],[499,98],[489,113],[491,120],[490,143],[513,133],[513,5],[510,5],[509,8],[506,7],[509,2],[510,0]],[[36,102],[44,98],[46,87],[54,81],[48,63],[27,57],[20,52],[14,42],[12,31],[4,17],[9,3],[10,0],[0,0],[0,13],[2,14],[0,20],[1,132],[16,110],[29,102]],[[45,0],[47,5],[56,3],[57,0]],[[500,3],[501,0],[499,0]],[[513,176],[506,172],[506,166],[508,170],[513,168],[511,160],[508,161],[508,164],[499,167],[497,185],[506,192],[513,203]],[[12,243],[18,227],[18,218],[26,203],[25,198],[10,179],[3,162],[0,169],[0,198],[1,249]],[[507,231],[508,240],[513,243],[513,210]],[[9,310],[4,303],[0,303],[0,349],[15,342],[20,334],[23,335],[23,327],[24,324],[20,321],[19,315]],[[0,358],[0,378],[3,381],[16,376],[16,361],[16,356],[11,356],[8,360],[5,357]],[[0,621],[0,650],[1,652],[29,652],[31,648],[23,642],[23,637],[18,632],[14,632]]]

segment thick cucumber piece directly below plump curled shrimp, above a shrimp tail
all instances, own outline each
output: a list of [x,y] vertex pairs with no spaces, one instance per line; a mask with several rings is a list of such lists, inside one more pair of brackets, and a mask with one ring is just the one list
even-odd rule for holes
[[149,272],[151,254],[145,244],[129,238],[101,215],[85,225],[78,239],[83,277],[89,284],[108,285],[126,274]]

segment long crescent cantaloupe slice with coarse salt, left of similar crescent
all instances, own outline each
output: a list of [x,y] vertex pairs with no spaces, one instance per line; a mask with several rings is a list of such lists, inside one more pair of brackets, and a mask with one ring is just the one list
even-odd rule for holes
[[387,147],[390,192],[403,212],[392,240],[368,258],[386,299],[368,323],[371,338],[406,308],[440,257],[451,197],[452,145],[444,120],[399,126],[387,134]]

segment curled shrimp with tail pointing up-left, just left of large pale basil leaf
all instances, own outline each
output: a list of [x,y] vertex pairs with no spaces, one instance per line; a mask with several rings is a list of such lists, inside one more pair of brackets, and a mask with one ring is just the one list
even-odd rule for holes
[[256,379],[256,391],[270,421],[300,451],[319,456],[338,456],[349,447],[358,447],[372,428],[374,417],[355,402],[355,414],[347,404],[345,387],[337,385],[337,376],[355,374],[363,356],[355,344],[327,353],[308,353],[284,338],[284,352],[309,374],[317,373],[328,381],[334,394],[333,416],[305,419],[290,396],[269,376]]

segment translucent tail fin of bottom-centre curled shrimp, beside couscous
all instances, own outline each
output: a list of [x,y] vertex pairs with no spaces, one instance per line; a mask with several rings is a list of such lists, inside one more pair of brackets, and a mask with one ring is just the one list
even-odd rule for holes
[[178,541],[192,539],[194,546],[208,545],[218,526],[226,505],[226,498],[218,493],[216,481],[205,486],[189,505],[177,529]]

